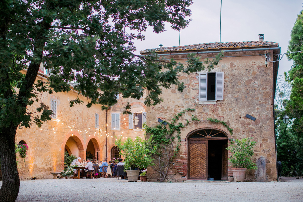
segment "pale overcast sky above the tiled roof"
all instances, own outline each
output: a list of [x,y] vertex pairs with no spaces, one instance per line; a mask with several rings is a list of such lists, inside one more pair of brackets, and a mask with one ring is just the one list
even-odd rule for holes
[[[191,19],[188,27],[181,30],[180,45],[220,41],[221,0],[194,0],[190,6]],[[278,42],[281,53],[287,51],[291,29],[302,1],[298,0],[222,0],[221,42],[258,41],[258,34],[264,34],[265,41]],[[166,31],[155,34],[152,28],[145,32],[145,41],[136,41],[139,51],[179,45],[179,32],[169,25]],[[279,64],[279,75],[291,68],[292,62],[284,56]]]

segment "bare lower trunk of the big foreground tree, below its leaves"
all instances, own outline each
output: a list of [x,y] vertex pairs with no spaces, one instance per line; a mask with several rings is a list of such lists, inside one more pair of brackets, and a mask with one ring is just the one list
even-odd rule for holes
[[20,187],[15,153],[15,135],[17,126],[0,128],[0,160],[2,186],[0,201],[15,201]]

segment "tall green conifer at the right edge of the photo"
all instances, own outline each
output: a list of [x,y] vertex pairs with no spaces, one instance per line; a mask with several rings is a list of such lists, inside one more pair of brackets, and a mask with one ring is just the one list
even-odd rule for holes
[[[291,84],[291,95],[286,105],[286,113],[293,120],[291,133],[294,135],[297,165],[296,170],[303,170],[303,13],[299,13],[291,31],[291,40],[288,45],[288,59],[293,60],[293,66],[285,80]],[[301,159],[301,160],[300,160]]]

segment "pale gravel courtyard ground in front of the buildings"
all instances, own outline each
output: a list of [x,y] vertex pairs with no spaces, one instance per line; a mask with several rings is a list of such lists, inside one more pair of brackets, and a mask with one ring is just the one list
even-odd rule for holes
[[303,201],[303,179],[282,179],[287,182],[22,180],[16,201]]

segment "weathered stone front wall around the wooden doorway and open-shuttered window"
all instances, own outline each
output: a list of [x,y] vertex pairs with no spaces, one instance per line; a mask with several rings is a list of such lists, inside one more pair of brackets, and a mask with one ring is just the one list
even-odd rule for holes
[[[272,57],[272,51],[268,51]],[[262,56],[263,55],[263,56]],[[185,114],[180,121],[190,120],[195,115],[201,122],[191,123],[181,131],[181,147],[179,155],[175,158],[175,164],[168,172],[168,181],[186,180],[188,177],[188,143],[187,135],[199,128],[217,128],[228,135],[228,138],[241,139],[253,137],[257,144],[254,147],[255,162],[259,157],[266,158],[266,178],[276,180],[275,159],[275,132],[273,120],[273,66],[265,65],[265,51],[245,51],[225,53],[219,64],[211,72],[224,72],[224,99],[216,104],[198,104],[198,72],[190,75],[181,74],[179,79],[184,82],[186,88],[183,92],[171,89],[163,89],[163,102],[147,109],[149,126],[157,124],[157,119],[162,118],[171,121],[174,115],[186,108],[194,108],[194,112]],[[202,58],[214,57],[214,54],[199,55]],[[186,55],[174,55],[168,58],[177,59],[177,62],[185,63]],[[203,72],[208,72],[204,70]],[[245,117],[249,114],[256,118],[255,121]],[[232,129],[233,135],[221,124],[213,124],[206,121],[207,118],[216,118],[225,121]],[[231,167],[228,167],[228,179],[232,179]],[[247,172],[246,180],[256,180],[256,172]],[[157,174],[148,169],[148,179],[157,180]]]

